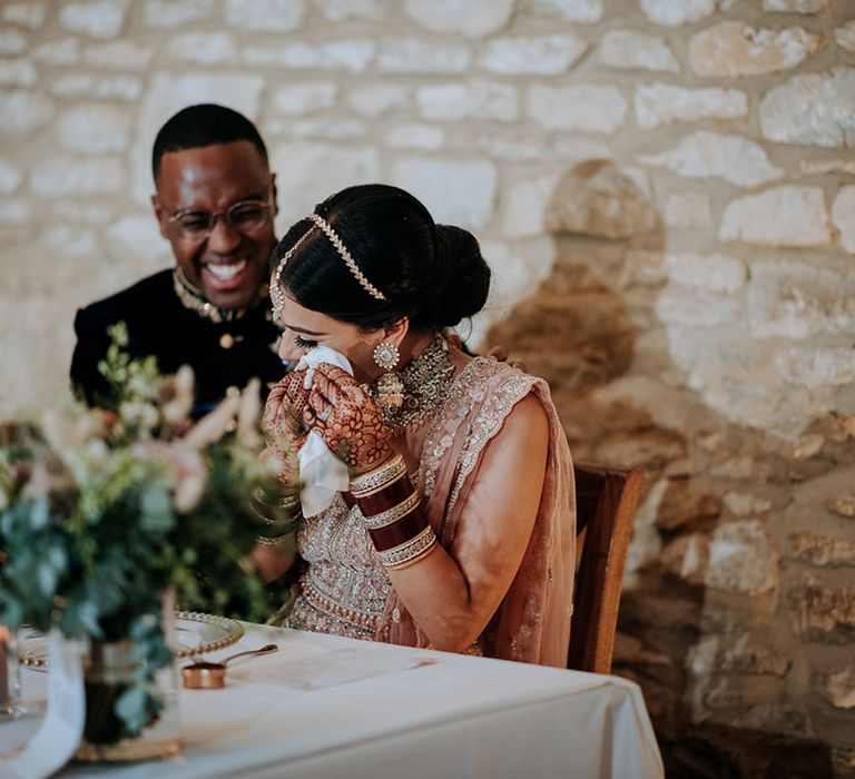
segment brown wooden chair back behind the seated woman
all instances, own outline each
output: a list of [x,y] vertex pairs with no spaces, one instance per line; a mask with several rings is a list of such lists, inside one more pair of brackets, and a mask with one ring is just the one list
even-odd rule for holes
[[609,673],[640,469],[574,463],[577,571],[567,667]]

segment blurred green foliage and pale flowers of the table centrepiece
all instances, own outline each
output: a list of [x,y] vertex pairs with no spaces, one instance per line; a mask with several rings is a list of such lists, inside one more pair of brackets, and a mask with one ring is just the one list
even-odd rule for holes
[[122,353],[124,326],[111,335],[101,372],[121,387],[114,408],[69,403],[0,423],[0,624],[129,641],[137,661],[130,681],[87,687],[86,737],[99,743],[159,716],[149,687],[173,659],[164,593],[183,609],[264,621],[281,601],[249,553],[259,534],[287,529],[250,506],[259,490],[282,493],[258,384],[194,424],[190,369],[161,377],[153,358]]

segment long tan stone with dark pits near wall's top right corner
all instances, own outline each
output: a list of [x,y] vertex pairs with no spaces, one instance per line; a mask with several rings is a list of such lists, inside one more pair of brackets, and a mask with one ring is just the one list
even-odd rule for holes
[[783,30],[723,21],[689,39],[689,66],[698,76],[758,76],[789,70],[819,48],[823,37],[800,27]]

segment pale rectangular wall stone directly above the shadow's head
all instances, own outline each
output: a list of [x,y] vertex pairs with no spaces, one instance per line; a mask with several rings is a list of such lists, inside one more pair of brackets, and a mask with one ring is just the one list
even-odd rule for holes
[[547,130],[613,134],[623,126],[627,101],[617,87],[582,83],[572,87],[534,85],[528,111]]

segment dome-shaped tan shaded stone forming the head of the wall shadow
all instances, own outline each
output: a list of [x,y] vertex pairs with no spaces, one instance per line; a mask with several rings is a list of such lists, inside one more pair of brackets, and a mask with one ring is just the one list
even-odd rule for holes
[[607,160],[588,160],[561,179],[547,214],[549,233],[573,233],[611,240],[646,235],[659,224],[638,183]]

